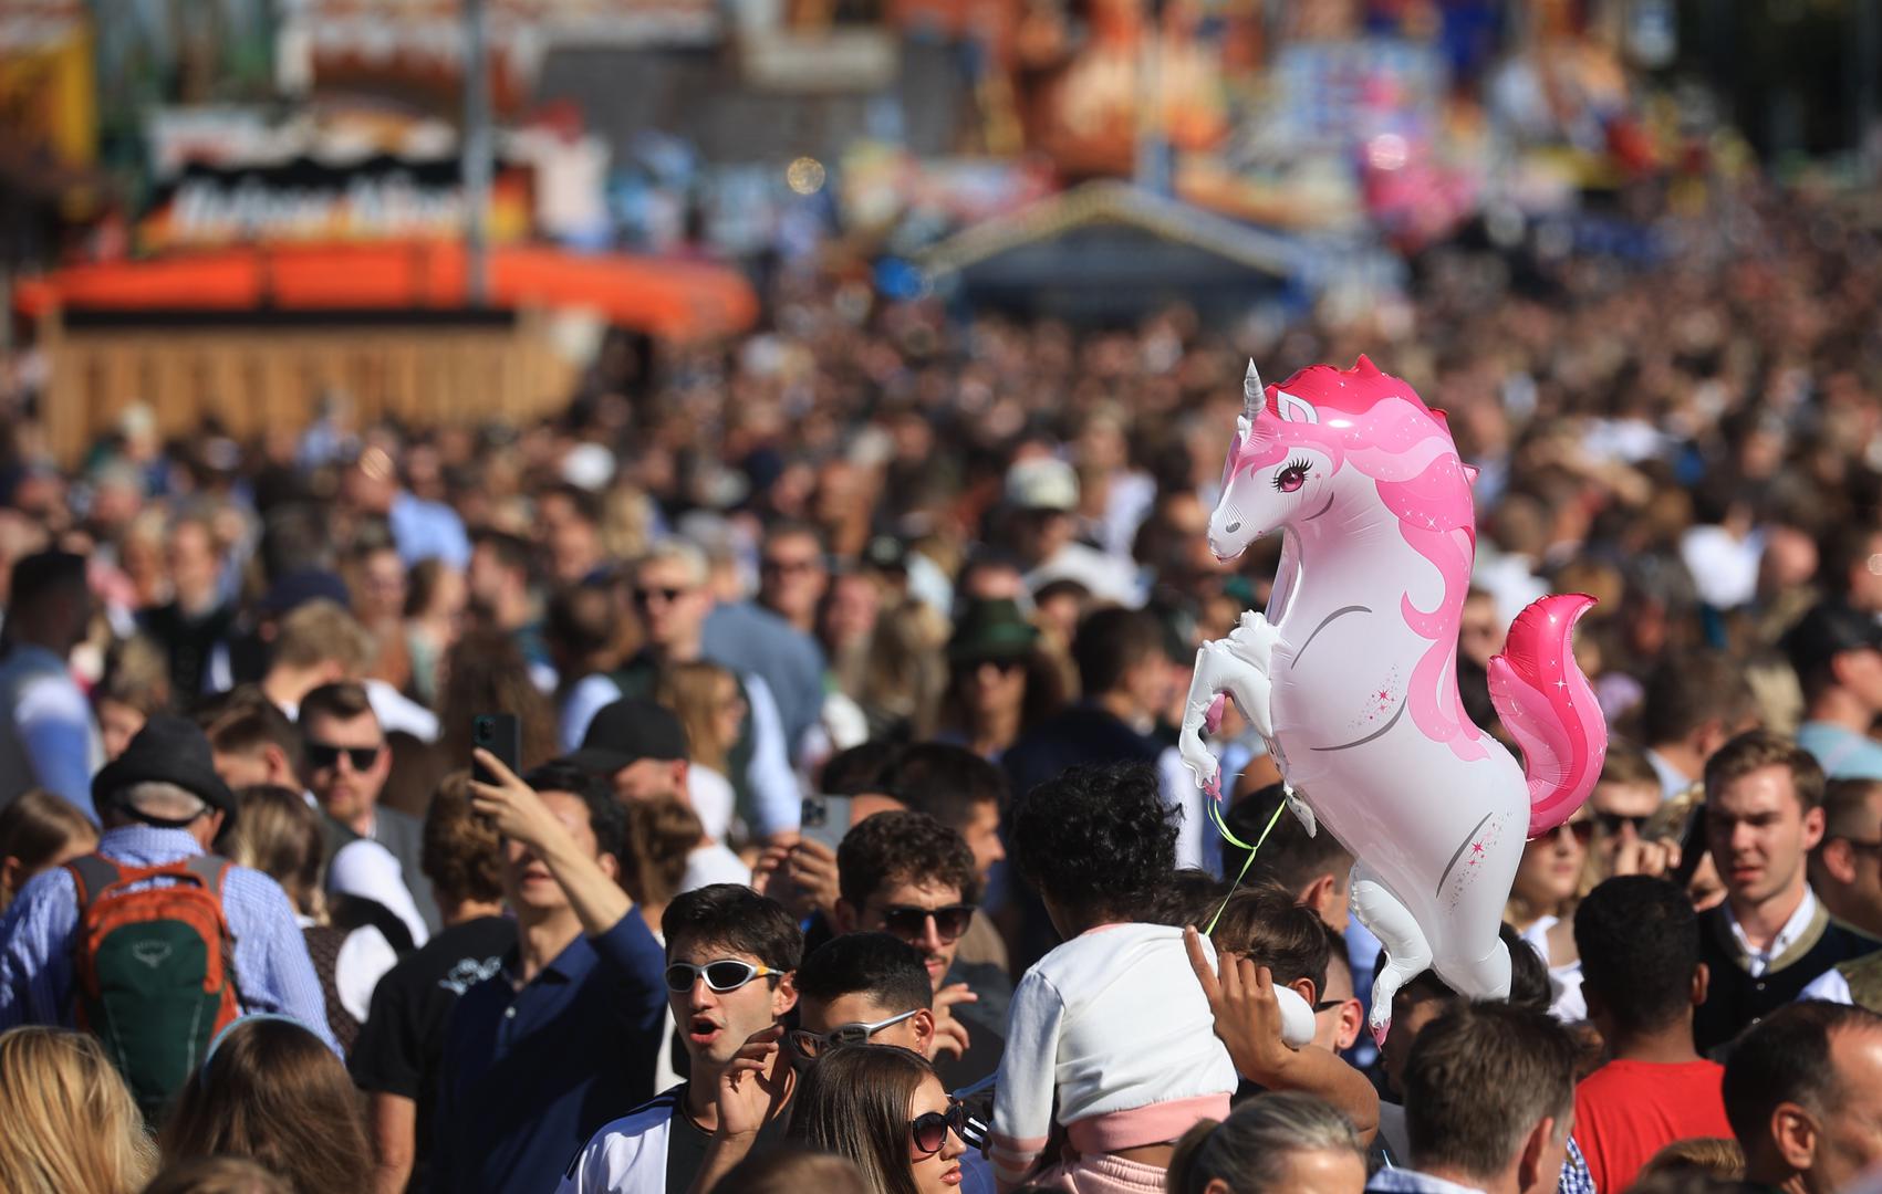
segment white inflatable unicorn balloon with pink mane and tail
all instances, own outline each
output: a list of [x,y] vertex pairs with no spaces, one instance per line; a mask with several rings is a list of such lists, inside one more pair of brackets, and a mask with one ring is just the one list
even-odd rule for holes
[[1263,389],[1246,408],[1208,519],[1231,560],[1284,532],[1267,615],[1244,613],[1195,656],[1182,758],[1220,797],[1214,731],[1233,696],[1287,780],[1287,803],[1325,825],[1353,867],[1353,912],[1385,944],[1372,1030],[1427,966],[1474,998],[1509,995],[1496,931],[1523,841],[1560,825],[1594,790],[1607,724],[1571,654],[1588,596],[1545,596],[1491,662],[1491,699],[1523,746],[1519,767],[1464,713],[1457,628],[1475,558],[1470,483],[1442,412],[1359,357]]

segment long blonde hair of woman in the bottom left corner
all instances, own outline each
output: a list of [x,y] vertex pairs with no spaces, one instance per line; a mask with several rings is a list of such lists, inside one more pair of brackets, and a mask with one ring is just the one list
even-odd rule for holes
[[156,1170],[130,1089],[85,1032],[0,1032],[0,1108],[8,1194],[136,1194]]

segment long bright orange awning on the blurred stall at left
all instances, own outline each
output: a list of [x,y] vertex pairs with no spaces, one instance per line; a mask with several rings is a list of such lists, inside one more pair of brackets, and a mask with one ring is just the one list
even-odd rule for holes
[[[497,306],[589,308],[610,323],[676,340],[732,335],[758,318],[734,269],[662,258],[580,256],[559,248],[489,252]],[[73,265],[23,280],[21,312],[83,310],[452,310],[467,303],[457,243],[228,248]]]

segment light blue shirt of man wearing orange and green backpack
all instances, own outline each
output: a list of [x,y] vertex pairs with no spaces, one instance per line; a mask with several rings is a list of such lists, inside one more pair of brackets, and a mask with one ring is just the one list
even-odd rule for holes
[[[120,867],[156,867],[203,852],[184,829],[124,825],[105,831],[98,852]],[[167,880],[149,880],[156,886]],[[134,888],[136,889],[136,888]],[[327,1004],[307,957],[294,904],[280,886],[247,867],[222,878],[222,914],[235,938],[235,985],[243,1013],[292,1015],[339,1051]],[[72,874],[36,874],[0,918],[0,1030],[15,1025],[73,1023],[73,936],[79,899]]]

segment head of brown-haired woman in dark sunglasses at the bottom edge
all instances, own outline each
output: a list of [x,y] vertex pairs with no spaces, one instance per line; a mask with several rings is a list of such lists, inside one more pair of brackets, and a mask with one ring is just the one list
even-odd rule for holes
[[877,1194],[952,1194],[965,1111],[933,1066],[898,1045],[822,1049],[804,1077],[790,1138],[849,1158]]

